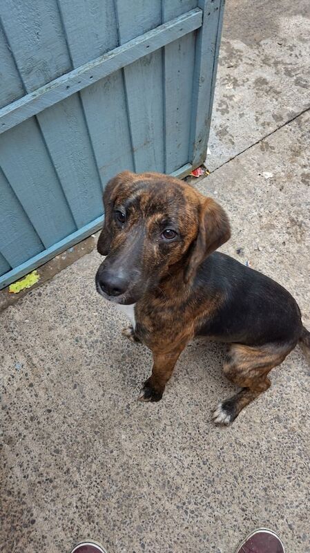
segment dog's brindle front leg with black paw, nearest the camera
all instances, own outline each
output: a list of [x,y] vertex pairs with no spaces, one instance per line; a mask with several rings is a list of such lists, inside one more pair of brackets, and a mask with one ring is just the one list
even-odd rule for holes
[[153,369],[151,376],[144,382],[144,386],[139,395],[142,402],[159,402],[162,399],[164,389],[168,379],[170,379],[177,359],[186,344],[182,344],[173,351],[167,352],[153,350]]

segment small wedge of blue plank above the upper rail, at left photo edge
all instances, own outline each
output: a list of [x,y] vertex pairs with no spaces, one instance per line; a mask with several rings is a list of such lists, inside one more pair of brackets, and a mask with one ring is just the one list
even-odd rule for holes
[[23,84],[0,24],[0,109],[24,95]]

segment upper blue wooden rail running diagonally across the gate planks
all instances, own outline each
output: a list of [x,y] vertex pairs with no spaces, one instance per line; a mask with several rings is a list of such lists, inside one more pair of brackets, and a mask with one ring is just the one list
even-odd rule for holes
[[0,133],[201,26],[202,10],[195,8],[41,86],[0,109]]

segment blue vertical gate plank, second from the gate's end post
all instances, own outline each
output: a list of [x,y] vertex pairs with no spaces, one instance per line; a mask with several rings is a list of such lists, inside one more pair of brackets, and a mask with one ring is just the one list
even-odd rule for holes
[[[161,24],[159,0],[115,0],[119,42],[142,35]],[[147,55],[124,68],[126,102],[135,170],[164,171],[162,53]]]

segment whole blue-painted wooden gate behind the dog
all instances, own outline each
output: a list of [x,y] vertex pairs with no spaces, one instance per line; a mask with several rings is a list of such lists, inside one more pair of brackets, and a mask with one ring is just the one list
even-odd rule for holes
[[102,224],[123,169],[206,156],[224,0],[2,0],[0,288]]

